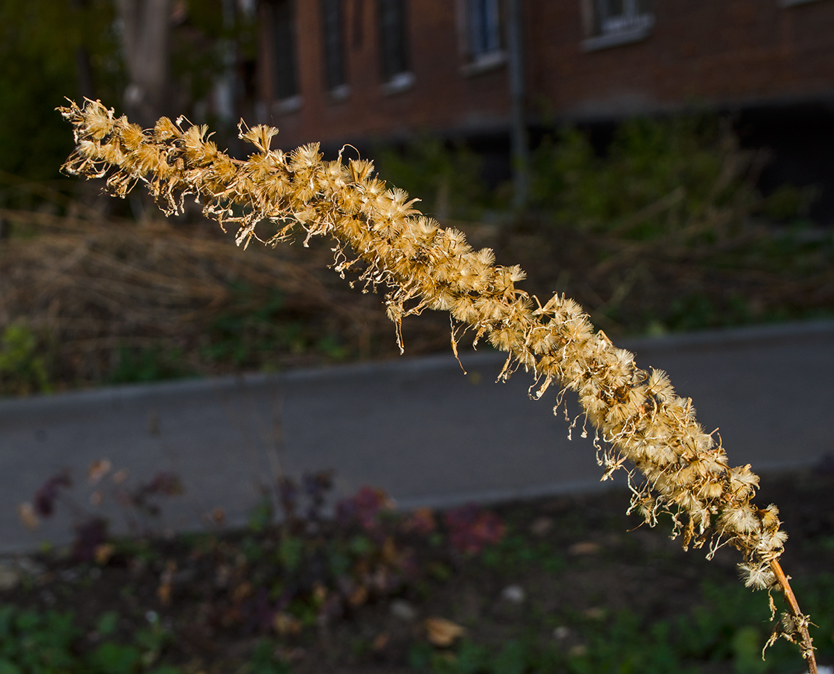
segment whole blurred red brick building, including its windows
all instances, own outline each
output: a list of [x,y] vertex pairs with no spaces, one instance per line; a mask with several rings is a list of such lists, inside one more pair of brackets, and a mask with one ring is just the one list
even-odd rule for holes
[[257,116],[283,147],[431,130],[506,153],[519,63],[534,133],[695,104],[775,148],[771,179],[831,173],[834,0],[261,0],[259,24]]

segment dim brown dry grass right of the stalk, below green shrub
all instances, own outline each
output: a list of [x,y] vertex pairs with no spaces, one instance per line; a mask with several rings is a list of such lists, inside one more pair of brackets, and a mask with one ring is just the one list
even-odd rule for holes
[[564,291],[612,335],[831,315],[830,232],[751,219],[726,234],[634,241],[530,219],[506,237],[501,256],[525,261],[532,292]]

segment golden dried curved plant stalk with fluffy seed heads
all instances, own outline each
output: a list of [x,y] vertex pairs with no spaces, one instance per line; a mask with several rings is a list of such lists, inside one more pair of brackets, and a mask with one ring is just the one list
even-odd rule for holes
[[[691,399],[676,395],[662,370],[639,369],[572,299],[556,294],[541,303],[517,289],[525,278],[520,267],[496,266],[492,250],[475,251],[459,231],[420,214],[416,199],[387,189],[369,161],[324,161],[318,144],[291,153],[270,149],[278,129],[263,125],[241,129],[256,151],[240,161],[208,140],[207,127],[183,118],[161,118],[143,131],[99,102],[60,110],[78,145],[63,167],[69,174],[107,178],[108,189],[121,197],[143,183],[166,214],[181,211],[193,196],[205,215],[224,228],[234,225],[244,247],[253,239],[276,245],[299,228],[305,245],[314,235],[330,236],[339,274],[357,270],[364,290],[389,289],[385,304],[400,350],[404,316],[449,311],[475,332],[475,344],[486,339],[508,353],[499,380],[523,365],[535,376],[531,398],[554,382],[575,391],[595,427],[603,479],[625,461],[635,466],[630,511],[650,525],[660,512],[671,513],[672,535],[682,536],[685,549],[708,545],[708,557],[726,544],[741,551],[746,586],[781,588],[788,600],[789,613],[773,638],[798,643],[816,674],[809,618],[778,562],[787,537],[778,510],[751,503],[758,476],[750,465],[731,467],[721,444],[696,422]],[[266,240],[255,232],[264,221],[274,228]],[[452,347],[457,354],[454,328]]]

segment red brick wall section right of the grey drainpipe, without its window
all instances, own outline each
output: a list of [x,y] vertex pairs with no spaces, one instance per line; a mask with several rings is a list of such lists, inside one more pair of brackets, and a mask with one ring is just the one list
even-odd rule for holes
[[657,0],[646,40],[583,53],[579,3],[531,0],[530,94],[560,116],[834,99],[834,2]]

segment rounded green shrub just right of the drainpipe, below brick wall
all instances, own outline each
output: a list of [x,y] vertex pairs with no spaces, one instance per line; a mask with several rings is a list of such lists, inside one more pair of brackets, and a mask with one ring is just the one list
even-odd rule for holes
[[601,157],[585,134],[565,128],[545,138],[533,168],[531,203],[555,224],[632,239],[655,238],[707,209],[750,209],[757,201],[746,180],[749,157],[709,116],[631,119]]

